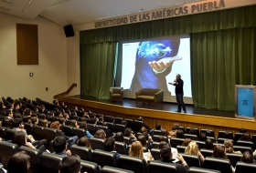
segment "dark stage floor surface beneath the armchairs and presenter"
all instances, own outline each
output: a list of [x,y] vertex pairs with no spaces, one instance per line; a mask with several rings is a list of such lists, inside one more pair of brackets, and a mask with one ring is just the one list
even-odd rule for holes
[[[83,96],[73,96],[74,98],[80,98],[84,100],[91,100],[97,101],[101,103],[109,103],[113,105],[119,105],[123,107],[139,107],[139,108],[147,108],[147,109],[155,109],[155,110],[164,110],[175,112],[176,111],[176,104],[175,103],[168,103],[165,102],[164,106],[162,107],[161,104],[150,104],[138,102],[136,106],[136,100],[131,98],[123,98],[122,101],[109,101],[108,99],[98,99],[96,97],[83,97]],[[194,107],[193,105],[186,105],[187,107],[187,114],[199,114],[199,115],[206,115],[206,116],[216,116],[216,117],[235,117],[235,111],[226,111],[226,110],[217,110],[217,109],[207,109],[207,108],[198,108]]]

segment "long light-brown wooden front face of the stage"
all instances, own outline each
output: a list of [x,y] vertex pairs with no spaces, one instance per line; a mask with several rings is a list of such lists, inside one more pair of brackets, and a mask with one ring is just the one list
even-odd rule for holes
[[229,117],[213,117],[205,115],[189,115],[171,113],[154,109],[144,109],[138,107],[123,107],[106,104],[96,101],[82,100],[70,97],[58,97],[59,101],[64,101],[69,107],[89,107],[91,112],[114,116],[137,119],[144,117],[144,123],[155,128],[156,123],[161,123],[166,130],[171,130],[174,123],[179,123],[183,127],[197,127],[198,129],[213,129],[218,137],[220,130],[230,131],[233,134],[239,132],[240,127],[248,129],[248,133],[256,134],[256,121]]

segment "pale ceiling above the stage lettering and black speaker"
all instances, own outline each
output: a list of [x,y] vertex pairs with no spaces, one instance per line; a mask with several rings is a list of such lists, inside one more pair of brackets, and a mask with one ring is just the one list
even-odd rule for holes
[[0,12],[34,19],[41,15],[59,25],[130,15],[203,0],[0,0]]

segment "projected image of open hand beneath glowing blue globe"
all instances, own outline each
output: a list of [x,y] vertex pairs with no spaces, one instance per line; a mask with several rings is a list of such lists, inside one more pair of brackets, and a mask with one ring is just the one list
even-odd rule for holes
[[141,88],[162,88],[175,96],[176,74],[184,80],[184,96],[191,97],[189,37],[123,43],[121,86],[131,93]]

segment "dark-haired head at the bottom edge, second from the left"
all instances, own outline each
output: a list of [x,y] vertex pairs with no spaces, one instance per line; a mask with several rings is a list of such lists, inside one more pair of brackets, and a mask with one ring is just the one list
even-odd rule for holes
[[59,173],[80,173],[80,156],[62,158],[59,163]]

